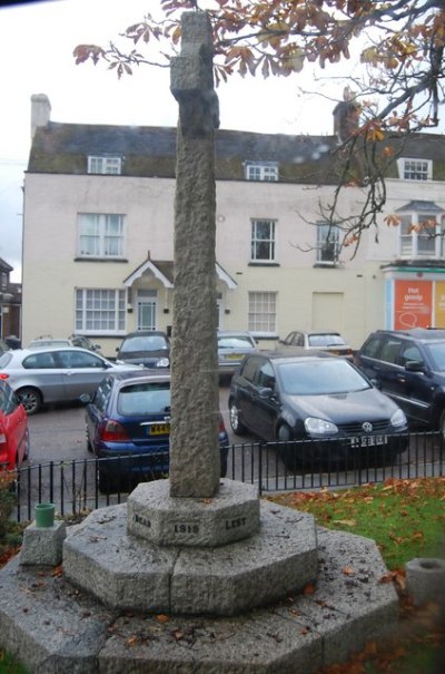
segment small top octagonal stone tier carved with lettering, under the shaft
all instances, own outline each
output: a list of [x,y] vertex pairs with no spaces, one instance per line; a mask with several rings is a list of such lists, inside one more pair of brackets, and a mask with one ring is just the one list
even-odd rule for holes
[[227,545],[259,527],[258,488],[235,480],[221,480],[207,499],[171,497],[169,480],[142,482],[127,507],[128,531],[164,546]]

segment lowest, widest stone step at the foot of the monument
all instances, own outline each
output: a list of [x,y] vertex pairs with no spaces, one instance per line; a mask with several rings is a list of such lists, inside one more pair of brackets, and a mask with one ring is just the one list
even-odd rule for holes
[[225,618],[109,610],[16,558],[0,572],[0,645],[32,674],[313,674],[390,636],[398,616],[374,541],[317,534],[313,593]]

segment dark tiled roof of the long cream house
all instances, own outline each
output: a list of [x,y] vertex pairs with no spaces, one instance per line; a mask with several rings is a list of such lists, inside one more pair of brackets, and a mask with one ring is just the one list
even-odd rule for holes
[[[121,175],[175,177],[177,133],[174,127],[108,126],[50,121],[37,129],[30,173],[83,175],[88,156],[119,156]],[[394,156],[434,160],[435,179],[445,179],[445,138],[438,134],[393,135]],[[289,183],[337,184],[340,158],[335,136],[215,133],[217,179],[244,179],[246,162],[276,162],[279,179]],[[357,176],[357,167],[353,167]],[[389,176],[398,177],[395,164]]]

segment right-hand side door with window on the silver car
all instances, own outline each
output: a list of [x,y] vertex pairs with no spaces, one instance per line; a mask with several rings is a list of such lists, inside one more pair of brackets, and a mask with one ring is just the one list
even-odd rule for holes
[[63,379],[65,400],[77,400],[82,393],[92,395],[106,372],[105,361],[90,351],[63,349],[55,351]]

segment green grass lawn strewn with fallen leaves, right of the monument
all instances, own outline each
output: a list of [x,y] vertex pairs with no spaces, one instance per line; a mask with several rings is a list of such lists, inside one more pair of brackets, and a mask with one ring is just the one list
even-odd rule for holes
[[[368,644],[349,663],[326,674],[445,674],[444,615],[415,608],[405,590],[405,564],[444,557],[445,478],[387,480],[346,490],[293,491],[268,500],[305,510],[326,528],[373,538],[400,597],[400,634],[388,646]],[[444,662],[438,663],[438,658]]]

